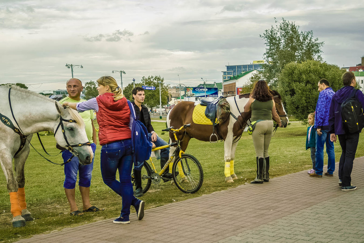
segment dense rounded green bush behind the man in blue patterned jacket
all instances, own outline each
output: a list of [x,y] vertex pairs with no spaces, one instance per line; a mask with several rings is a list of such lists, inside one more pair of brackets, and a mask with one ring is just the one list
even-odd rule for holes
[[341,76],[344,72],[334,64],[315,60],[286,64],[278,79],[278,92],[285,100],[287,113],[305,123],[307,115],[316,110],[318,81],[327,79],[337,91],[343,86]]

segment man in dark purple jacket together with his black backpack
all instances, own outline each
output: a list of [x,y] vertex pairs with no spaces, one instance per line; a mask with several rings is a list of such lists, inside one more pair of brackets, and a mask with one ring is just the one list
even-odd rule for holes
[[[363,128],[364,95],[356,90],[356,79],[353,72],[345,72],[341,78],[344,87],[332,97],[329,112],[331,141],[339,137],[341,157],[339,161],[339,185],[341,191],[352,191],[356,187],[351,184],[351,171],[359,143],[359,133]],[[346,109],[349,106],[349,109]],[[348,112],[351,110],[351,112]],[[355,113],[355,111],[357,111]],[[354,129],[356,127],[356,129]]]

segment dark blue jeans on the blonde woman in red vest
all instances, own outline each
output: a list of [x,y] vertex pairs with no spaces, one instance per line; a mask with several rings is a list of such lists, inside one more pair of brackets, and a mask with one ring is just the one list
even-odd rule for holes
[[[122,197],[120,217],[129,219],[130,206],[138,205],[139,200],[133,196],[131,184],[131,139],[105,144],[101,148],[101,175],[104,183]],[[116,171],[119,179],[116,180]]]

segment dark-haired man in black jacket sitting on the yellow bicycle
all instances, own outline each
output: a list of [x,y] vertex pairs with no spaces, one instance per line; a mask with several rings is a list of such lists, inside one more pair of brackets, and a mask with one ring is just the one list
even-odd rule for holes
[[[135,115],[137,119],[139,119],[147,128],[148,130],[148,136],[151,138],[151,141],[153,144],[157,147],[167,145],[167,142],[164,141],[162,138],[157,136],[157,133],[154,132],[153,126],[151,124],[150,120],[150,114],[148,108],[143,105],[145,99],[145,93],[144,89],[142,87],[135,87],[131,94],[133,95],[134,102],[132,104],[134,105]],[[154,147],[153,145],[153,147]],[[169,148],[161,149],[161,169],[166,164],[166,162],[169,159]],[[135,176],[135,196],[143,196],[142,193],[142,179],[141,179],[141,171],[138,171],[134,169],[134,176]],[[172,178],[172,174],[169,173],[168,168],[166,169],[166,172],[162,175],[166,178]]]

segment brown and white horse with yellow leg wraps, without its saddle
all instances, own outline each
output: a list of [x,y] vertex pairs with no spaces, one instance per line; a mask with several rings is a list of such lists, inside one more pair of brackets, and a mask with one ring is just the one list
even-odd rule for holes
[[[283,127],[286,127],[288,124],[288,117],[282,104],[281,95],[275,90],[270,90],[270,92],[273,95],[276,110],[278,115],[281,117],[282,125]],[[225,181],[227,183],[232,183],[234,182],[233,180],[238,179],[234,173],[234,158],[238,140],[240,139],[240,136],[252,115],[251,112],[244,112],[244,105],[248,102],[249,95],[250,94],[247,93],[227,97],[226,101],[230,104],[230,115],[224,122],[215,126],[215,133],[217,133],[219,140],[224,141],[225,166],[230,167],[230,173],[225,171]],[[210,141],[212,125],[194,123],[192,119],[194,108],[194,102],[183,101],[173,107],[167,115],[168,127],[173,126],[174,128],[179,128],[184,124],[191,124],[191,126],[186,128],[186,130],[182,130],[177,133],[177,138],[181,140],[181,149],[183,151],[186,151],[191,138],[205,142]],[[170,140],[174,142],[174,137],[170,136]],[[173,153],[173,149],[174,148],[171,148],[171,153]]]

